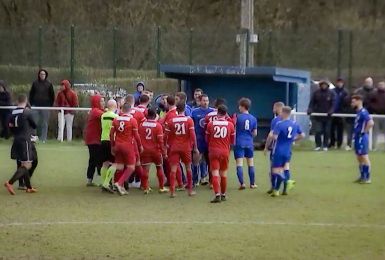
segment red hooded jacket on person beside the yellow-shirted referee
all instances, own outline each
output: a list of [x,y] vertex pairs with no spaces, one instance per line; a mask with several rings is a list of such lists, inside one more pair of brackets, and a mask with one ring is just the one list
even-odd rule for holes
[[103,107],[100,106],[100,95],[91,96],[91,111],[88,114],[86,128],[84,129],[84,141],[86,145],[100,144],[102,135],[101,117],[104,113]]

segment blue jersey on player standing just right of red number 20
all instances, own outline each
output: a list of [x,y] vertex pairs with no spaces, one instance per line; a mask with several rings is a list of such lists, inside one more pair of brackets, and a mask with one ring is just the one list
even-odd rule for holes
[[257,119],[247,113],[237,115],[236,123],[236,146],[254,147],[253,132],[257,129]]

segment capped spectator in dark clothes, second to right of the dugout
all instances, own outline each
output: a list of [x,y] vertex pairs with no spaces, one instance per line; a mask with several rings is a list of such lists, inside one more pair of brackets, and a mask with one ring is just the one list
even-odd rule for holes
[[[345,105],[345,99],[348,96],[348,92],[345,89],[345,83],[342,78],[338,78],[336,82],[336,88],[332,90],[335,97],[334,113],[342,113]],[[340,149],[344,139],[344,119],[342,117],[333,117],[331,125],[330,145],[329,147],[335,147]]]

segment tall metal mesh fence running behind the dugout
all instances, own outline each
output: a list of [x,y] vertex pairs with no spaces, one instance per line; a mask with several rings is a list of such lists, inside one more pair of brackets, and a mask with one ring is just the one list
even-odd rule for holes
[[[238,65],[236,28],[68,28],[0,30],[0,72],[14,84],[30,83],[37,68],[54,80],[94,82],[135,77],[135,71],[161,76],[160,63]],[[243,32],[245,33],[245,32]],[[382,31],[258,30],[255,65],[310,70],[315,77],[382,77]],[[7,79],[6,78],[6,79]]]

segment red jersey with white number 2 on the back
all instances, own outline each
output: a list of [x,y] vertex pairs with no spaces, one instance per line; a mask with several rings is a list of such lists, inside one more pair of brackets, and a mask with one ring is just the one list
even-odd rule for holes
[[155,120],[147,120],[139,126],[139,136],[147,152],[163,151],[163,127]]

